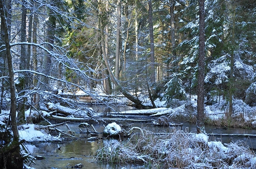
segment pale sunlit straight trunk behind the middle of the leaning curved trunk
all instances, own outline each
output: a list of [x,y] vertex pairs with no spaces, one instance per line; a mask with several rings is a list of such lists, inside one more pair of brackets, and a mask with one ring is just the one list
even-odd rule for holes
[[120,75],[120,32],[121,32],[121,0],[117,0],[117,35],[116,35],[116,66],[115,77],[119,80]]

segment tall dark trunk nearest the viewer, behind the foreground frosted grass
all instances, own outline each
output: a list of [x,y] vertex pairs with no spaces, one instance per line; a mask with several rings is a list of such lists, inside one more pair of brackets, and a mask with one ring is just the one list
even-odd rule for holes
[[204,61],[205,61],[205,31],[204,31],[204,0],[199,0],[199,58],[197,77],[197,133],[205,133],[204,128]]

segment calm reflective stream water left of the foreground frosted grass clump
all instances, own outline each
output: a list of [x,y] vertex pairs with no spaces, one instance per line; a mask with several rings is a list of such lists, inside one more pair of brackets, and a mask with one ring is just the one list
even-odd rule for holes
[[[71,166],[83,164],[82,169],[147,169],[145,166],[120,166],[96,163],[95,154],[102,140],[95,142],[87,141],[87,134],[79,134],[79,123],[72,123],[70,128],[77,131],[79,139],[70,143],[42,143],[33,142],[32,145],[27,145],[32,156],[40,155],[45,157],[44,160],[34,160],[36,164],[31,164],[30,167],[35,169],[71,169]],[[61,128],[61,127],[59,127]],[[63,126],[64,128],[64,126]],[[103,131],[102,126],[95,126],[97,131]],[[70,165],[68,165],[70,164]]]

